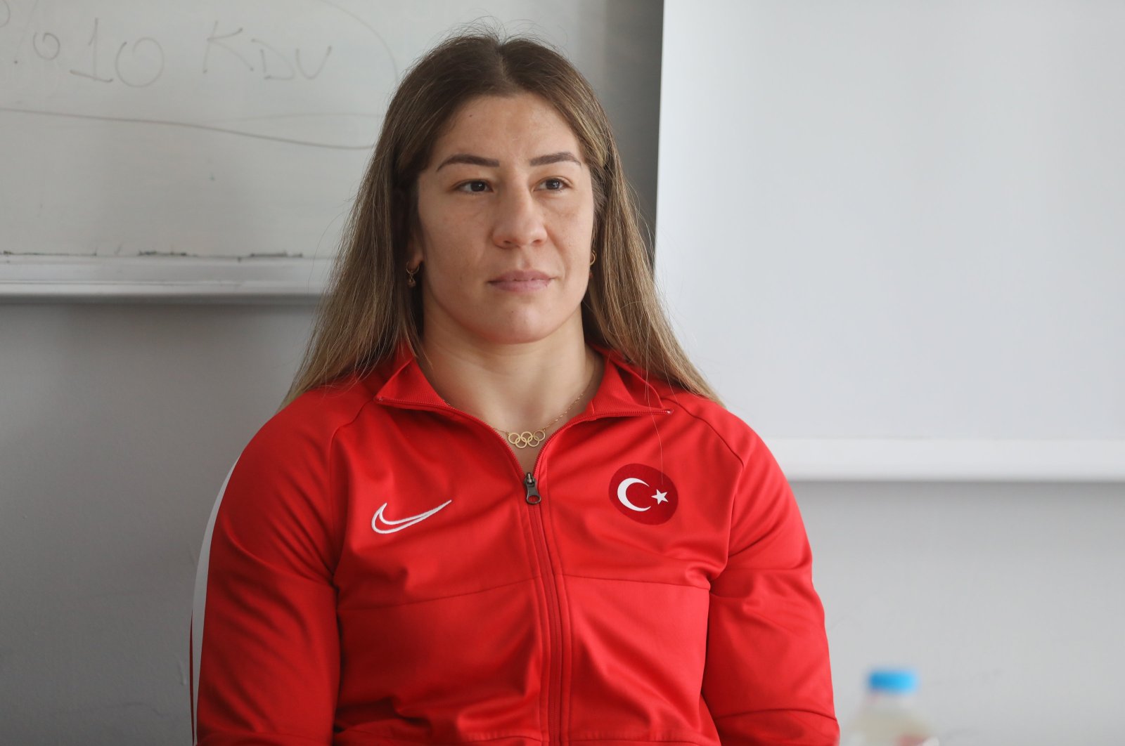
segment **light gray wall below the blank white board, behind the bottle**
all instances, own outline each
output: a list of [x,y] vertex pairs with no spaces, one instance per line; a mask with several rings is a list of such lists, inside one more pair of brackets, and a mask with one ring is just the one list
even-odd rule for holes
[[793,488],[843,724],[912,665],[943,746],[1122,743],[1125,485]]

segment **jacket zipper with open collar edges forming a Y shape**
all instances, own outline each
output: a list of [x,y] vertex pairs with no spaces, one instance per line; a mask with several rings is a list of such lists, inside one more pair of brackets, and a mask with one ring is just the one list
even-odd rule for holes
[[[449,407],[439,407],[435,404],[426,404],[421,402],[411,402],[395,399],[384,399],[378,397],[378,401],[386,403],[397,403],[406,406],[413,409],[429,409],[432,411],[451,412],[456,416],[464,417],[465,419],[471,420],[479,424],[482,427],[486,428],[489,433],[496,436],[496,438],[504,445],[504,451],[507,452],[515,464],[516,472],[523,474],[521,483],[523,485],[524,501],[530,508],[538,507],[543,498],[539,493],[539,483],[536,481],[534,473],[539,471],[539,461],[542,458],[543,453],[547,451],[547,446],[550,440],[561,433],[562,430],[569,428],[573,425],[579,422],[588,422],[591,420],[601,419],[603,417],[627,417],[631,415],[669,415],[672,410],[668,409],[630,409],[630,410],[618,410],[609,412],[598,412],[596,415],[587,415],[585,417],[576,417],[562,425],[559,429],[551,433],[547,440],[543,442],[542,447],[539,453],[536,454],[536,463],[532,464],[530,472],[524,472],[523,466],[520,464],[520,460],[515,457],[515,454],[507,446],[507,442],[496,435],[496,430],[489,426],[484,420],[469,415],[468,412],[462,412],[459,409]],[[529,509],[530,509],[529,508]],[[543,513],[542,510],[531,510],[531,522],[536,526],[536,554],[539,562],[539,566],[543,572],[543,585],[547,590],[547,607],[548,607],[548,628],[550,635],[550,648],[548,649],[548,659],[550,665],[550,683],[548,684],[547,691],[547,728],[549,733],[549,738],[551,742],[561,744],[562,743],[562,724],[561,708],[562,708],[562,611],[560,609],[559,602],[559,589],[558,582],[555,579],[555,565],[551,560],[550,543],[547,539],[547,527],[543,525]]]

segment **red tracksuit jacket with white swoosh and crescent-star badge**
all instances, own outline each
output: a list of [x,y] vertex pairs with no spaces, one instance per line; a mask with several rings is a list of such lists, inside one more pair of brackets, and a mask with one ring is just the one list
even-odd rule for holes
[[267,422],[200,555],[196,743],[835,744],[776,462],[602,352],[532,474],[405,351]]

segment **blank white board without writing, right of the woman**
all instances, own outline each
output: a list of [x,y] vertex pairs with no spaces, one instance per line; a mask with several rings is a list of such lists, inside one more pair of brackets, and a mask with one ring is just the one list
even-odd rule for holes
[[783,465],[1125,479],[1125,4],[664,21],[662,289]]

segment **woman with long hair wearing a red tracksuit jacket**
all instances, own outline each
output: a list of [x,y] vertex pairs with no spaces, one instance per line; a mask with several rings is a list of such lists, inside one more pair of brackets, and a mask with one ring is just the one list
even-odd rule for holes
[[835,743],[792,494],[669,331],[568,62],[418,62],[333,283],[208,528],[198,744]]

